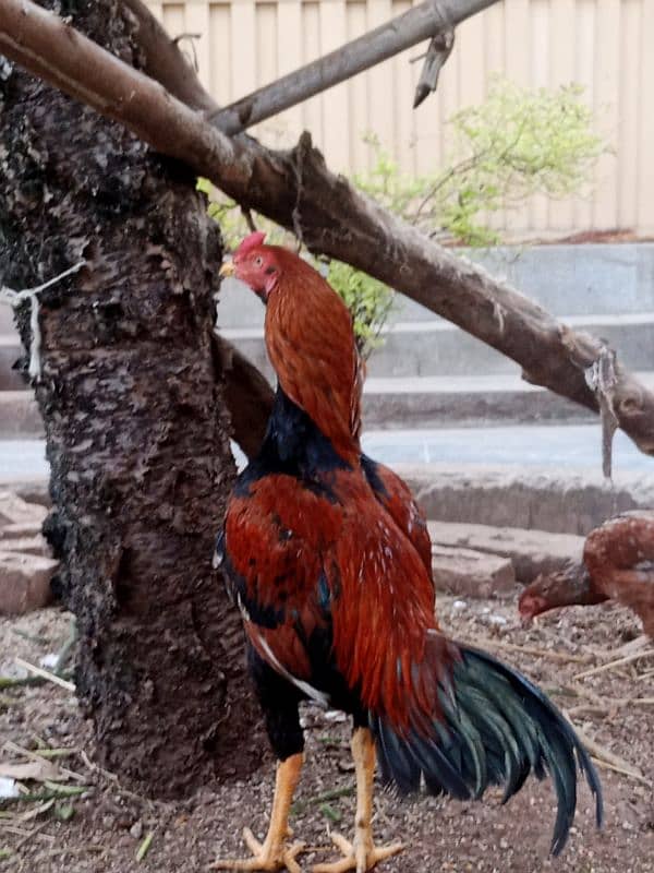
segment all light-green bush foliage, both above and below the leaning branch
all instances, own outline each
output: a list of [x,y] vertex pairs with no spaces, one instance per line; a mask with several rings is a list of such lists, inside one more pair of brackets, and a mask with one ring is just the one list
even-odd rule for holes
[[[374,165],[353,182],[432,238],[495,244],[500,235],[488,224],[494,213],[516,207],[535,193],[550,198],[579,193],[590,181],[606,146],[592,130],[592,112],[582,94],[578,85],[531,91],[497,77],[483,104],[449,120],[452,144],[445,167],[419,177],[402,175],[378,140],[368,135]],[[209,198],[208,212],[220,224],[226,248],[235,248],[250,232],[245,215],[206,179],[197,186]],[[292,234],[272,222],[259,215],[255,222],[267,232],[268,242],[298,246]],[[352,312],[362,354],[370,354],[379,343],[393,292],[339,261],[329,262],[327,279]]]

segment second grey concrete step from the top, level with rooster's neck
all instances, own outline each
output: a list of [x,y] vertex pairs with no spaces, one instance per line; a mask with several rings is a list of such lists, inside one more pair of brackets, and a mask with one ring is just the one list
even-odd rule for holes
[[[564,321],[576,331],[606,339],[629,369],[654,370],[654,312],[572,315]],[[221,335],[272,380],[263,328],[226,328]],[[383,339],[368,358],[368,376],[519,374],[518,364],[509,358],[443,319],[398,322],[383,332]]]

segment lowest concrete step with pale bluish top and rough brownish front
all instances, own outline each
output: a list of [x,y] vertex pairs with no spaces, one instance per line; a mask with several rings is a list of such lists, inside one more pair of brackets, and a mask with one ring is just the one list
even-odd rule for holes
[[[654,506],[652,458],[616,434],[611,483],[600,444],[597,426],[364,434],[365,451],[397,469],[429,519],[577,536],[619,512]],[[2,487],[46,502],[48,475],[43,440],[0,440]]]

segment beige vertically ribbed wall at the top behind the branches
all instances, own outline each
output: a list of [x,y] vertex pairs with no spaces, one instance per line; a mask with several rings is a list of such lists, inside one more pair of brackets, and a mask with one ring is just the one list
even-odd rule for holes
[[[201,34],[199,74],[221,104],[293,70],[411,7],[409,0],[186,0],[149,2],[172,36]],[[186,50],[191,45],[183,43]],[[254,129],[271,145],[303,128],[339,170],[365,169],[375,132],[407,172],[438,166],[445,119],[483,99],[488,75],[523,85],[571,81],[586,88],[614,154],[597,166],[590,195],[534,198],[499,222],[516,235],[590,228],[654,234],[654,0],[505,0],[457,31],[438,92],[411,109],[422,47]]]

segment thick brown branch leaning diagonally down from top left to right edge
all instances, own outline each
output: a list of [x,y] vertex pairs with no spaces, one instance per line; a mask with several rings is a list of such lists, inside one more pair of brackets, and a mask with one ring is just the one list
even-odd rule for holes
[[[603,344],[433,242],[331,174],[303,134],[290,152],[228,139],[159,83],[28,0],[0,4],[0,51],[208,177],[243,206],[295,230],[316,253],[363,270],[517,361],[530,382],[598,410],[586,373]],[[654,393],[619,364],[620,428],[654,455]]]

